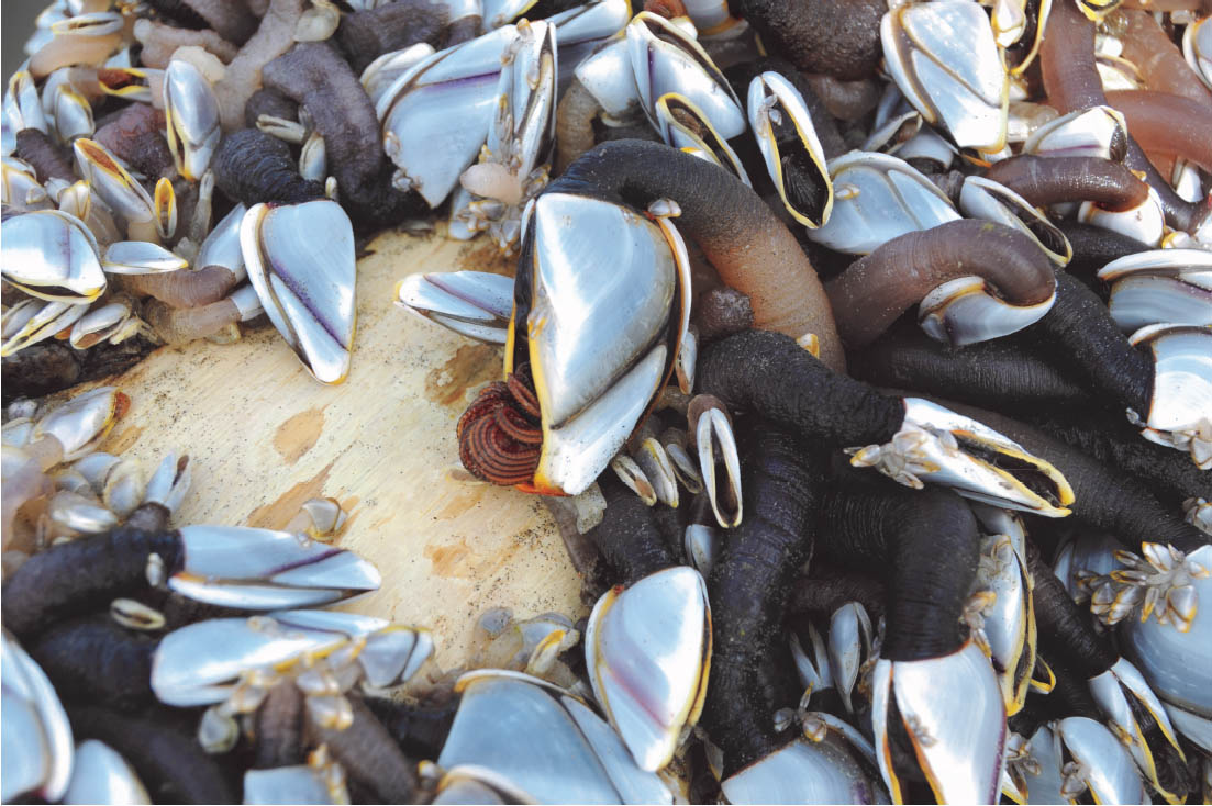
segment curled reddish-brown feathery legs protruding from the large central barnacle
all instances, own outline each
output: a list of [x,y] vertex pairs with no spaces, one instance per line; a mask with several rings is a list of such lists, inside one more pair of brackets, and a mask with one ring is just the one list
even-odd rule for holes
[[485,387],[456,427],[467,470],[502,486],[528,484],[538,468],[543,430],[530,365]]

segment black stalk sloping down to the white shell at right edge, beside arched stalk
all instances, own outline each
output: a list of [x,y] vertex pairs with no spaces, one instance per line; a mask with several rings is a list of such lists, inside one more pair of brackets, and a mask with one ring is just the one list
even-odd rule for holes
[[1057,273],[1056,304],[1010,342],[1041,350],[1092,394],[1148,416],[1151,359],[1132,347],[1098,295],[1073,275]]

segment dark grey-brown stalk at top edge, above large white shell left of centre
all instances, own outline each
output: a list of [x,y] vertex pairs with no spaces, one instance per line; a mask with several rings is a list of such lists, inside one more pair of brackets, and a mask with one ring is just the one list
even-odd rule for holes
[[445,47],[448,24],[450,17],[444,4],[396,0],[370,11],[342,15],[336,40],[349,58],[350,67],[361,74],[383,53],[417,42],[429,42],[434,48],[441,50]]

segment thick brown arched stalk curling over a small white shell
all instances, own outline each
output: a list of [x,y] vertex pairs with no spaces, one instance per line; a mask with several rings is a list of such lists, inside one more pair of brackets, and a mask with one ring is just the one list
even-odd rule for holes
[[1016,305],[1052,296],[1052,265],[1030,238],[1001,224],[953,221],[905,233],[825,284],[842,341],[874,341],[932,288],[966,275],[989,280]]

